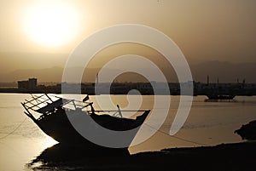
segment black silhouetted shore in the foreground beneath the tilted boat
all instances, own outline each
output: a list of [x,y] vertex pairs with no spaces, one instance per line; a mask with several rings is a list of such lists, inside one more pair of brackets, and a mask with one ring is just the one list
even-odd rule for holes
[[[55,145],[28,168],[38,170],[254,170],[256,142],[164,149],[133,155],[88,155],[81,148]],[[36,166],[36,163],[42,165]]]

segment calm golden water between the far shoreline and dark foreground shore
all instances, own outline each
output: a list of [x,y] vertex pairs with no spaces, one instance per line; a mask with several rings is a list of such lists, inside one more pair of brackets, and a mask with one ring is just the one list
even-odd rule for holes
[[[36,164],[28,164],[56,143],[23,113],[20,102],[25,99],[30,99],[30,94],[0,94],[0,170],[35,169]],[[236,97],[232,102],[205,102],[205,99],[205,96],[194,98],[183,128],[175,136],[170,136],[168,132],[179,101],[178,96],[172,96],[171,109],[160,131],[142,144],[130,147],[129,151],[137,153],[172,147],[240,142],[241,138],[234,134],[234,130],[256,119],[256,97]],[[95,97],[90,96],[90,100],[95,101]],[[121,108],[128,105],[125,95],[113,95],[112,100]],[[143,96],[143,109],[151,109],[153,103],[154,96]],[[162,109],[159,107],[157,110]]]

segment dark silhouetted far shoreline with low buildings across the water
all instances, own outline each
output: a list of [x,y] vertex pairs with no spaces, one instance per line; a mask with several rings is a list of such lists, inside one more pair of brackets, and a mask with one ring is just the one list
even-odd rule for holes
[[[0,88],[0,93],[18,94],[61,94],[61,88],[65,87],[65,94],[128,94],[132,89],[137,89],[140,94],[172,94],[180,95],[181,86],[193,86],[193,94],[206,95],[210,100],[232,100],[236,96],[256,95],[256,84],[254,83],[168,83],[169,89],[166,91],[164,83],[57,83],[56,85],[38,85],[36,78],[28,81],[20,81],[18,88]],[[154,86],[153,86],[154,85]],[[96,93],[96,86],[99,92]],[[110,90],[109,90],[109,88]],[[159,88],[158,93],[154,93],[154,87]],[[79,91],[78,91],[79,90]],[[169,92],[168,92],[169,91]],[[186,95],[186,94],[184,94]],[[188,94],[191,95],[191,94]]]

